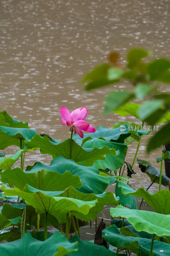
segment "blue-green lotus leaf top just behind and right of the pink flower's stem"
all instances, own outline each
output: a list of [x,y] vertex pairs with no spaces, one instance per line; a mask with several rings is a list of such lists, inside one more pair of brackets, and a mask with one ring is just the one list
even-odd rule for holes
[[93,133],[88,133],[88,134],[84,133],[83,138],[80,138],[80,136],[78,136],[78,134],[75,133],[73,135],[73,140],[75,140],[76,143],[81,146],[82,142],[84,144],[85,139],[87,139],[88,137],[90,137],[89,139],[103,138],[104,140],[110,141],[110,140],[118,140],[122,134],[128,134],[128,133],[129,133],[128,129],[120,131],[119,127],[116,129],[107,129],[104,126],[99,126],[97,130]]

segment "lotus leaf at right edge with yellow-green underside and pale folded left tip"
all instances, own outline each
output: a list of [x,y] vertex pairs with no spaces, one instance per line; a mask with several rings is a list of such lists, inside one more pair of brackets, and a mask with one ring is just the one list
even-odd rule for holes
[[118,186],[122,188],[122,193],[124,195],[139,196],[144,198],[145,202],[149,204],[155,212],[170,214],[170,192],[167,189],[163,189],[155,194],[152,194],[146,191],[144,188],[134,190],[122,181],[119,182]]

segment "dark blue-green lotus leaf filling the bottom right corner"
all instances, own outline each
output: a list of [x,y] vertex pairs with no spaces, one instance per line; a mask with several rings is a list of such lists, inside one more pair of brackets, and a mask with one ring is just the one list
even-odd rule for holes
[[[149,256],[151,248],[151,239],[123,236],[119,229],[115,226],[109,226],[102,231],[102,236],[109,244],[118,248],[127,248],[129,251],[138,255]],[[152,256],[169,256],[170,244],[154,241]]]

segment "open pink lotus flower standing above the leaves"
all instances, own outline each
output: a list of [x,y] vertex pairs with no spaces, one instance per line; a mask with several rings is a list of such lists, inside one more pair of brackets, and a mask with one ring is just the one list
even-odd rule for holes
[[70,131],[73,126],[73,131],[78,133],[78,135],[83,138],[83,132],[95,132],[95,129],[92,125],[88,124],[84,119],[88,115],[88,110],[85,107],[77,108],[71,112],[68,108],[62,107],[60,108],[60,114],[62,116],[61,123],[64,126],[69,126]]

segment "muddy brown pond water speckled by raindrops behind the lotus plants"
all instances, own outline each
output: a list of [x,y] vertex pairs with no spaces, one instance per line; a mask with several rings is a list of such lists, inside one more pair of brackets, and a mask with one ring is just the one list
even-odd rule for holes
[[[118,121],[135,122],[133,117],[102,116],[105,95],[113,89],[130,90],[128,83],[84,93],[79,81],[92,67],[106,62],[113,50],[121,52],[122,63],[131,47],[152,50],[154,57],[170,57],[168,10],[168,0],[2,0],[1,109],[57,140],[70,136],[61,125],[61,106],[70,110],[87,107],[87,122],[95,128],[110,128]],[[139,153],[143,159],[145,142],[143,138]],[[136,142],[129,146],[126,161],[132,163],[136,147]],[[6,149],[6,156],[13,150],[17,149]],[[148,161],[159,168],[158,156],[161,151],[152,153]],[[27,154],[26,164],[37,160],[49,164],[51,157],[35,151]],[[137,174],[131,186],[148,187],[150,179],[140,173],[137,164],[134,170]],[[154,184],[150,191],[157,189]]]

